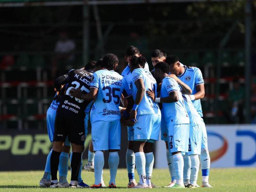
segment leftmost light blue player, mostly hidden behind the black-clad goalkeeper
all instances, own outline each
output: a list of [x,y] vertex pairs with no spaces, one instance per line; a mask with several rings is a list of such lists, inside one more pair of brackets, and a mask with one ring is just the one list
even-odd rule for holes
[[[51,142],[53,142],[54,122],[55,122],[56,111],[60,104],[60,96],[63,91],[64,91],[64,89],[60,90],[60,92],[58,91],[55,94],[54,99],[52,100],[52,103],[46,113],[47,131],[48,131],[49,139]],[[60,182],[58,183],[59,187],[68,187],[69,186],[69,183],[67,181],[69,150],[70,150],[70,142],[68,141],[68,138],[67,138],[64,142],[64,146],[63,146],[62,152],[60,154],[60,164],[59,164]],[[50,162],[51,155],[52,155],[52,149],[49,152],[47,159],[46,159],[44,176],[39,182],[40,187],[50,187],[50,185],[51,185],[51,162]]]

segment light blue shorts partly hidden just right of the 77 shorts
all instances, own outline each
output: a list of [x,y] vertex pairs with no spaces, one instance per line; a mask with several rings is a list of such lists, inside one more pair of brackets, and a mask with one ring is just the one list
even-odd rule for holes
[[189,126],[188,155],[201,154],[202,135],[201,124]]

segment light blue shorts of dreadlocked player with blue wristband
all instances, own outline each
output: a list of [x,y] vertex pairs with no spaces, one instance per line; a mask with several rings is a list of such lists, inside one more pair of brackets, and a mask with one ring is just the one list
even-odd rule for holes
[[161,126],[161,116],[156,114],[139,115],[133,125],[133,140],[158,140]]

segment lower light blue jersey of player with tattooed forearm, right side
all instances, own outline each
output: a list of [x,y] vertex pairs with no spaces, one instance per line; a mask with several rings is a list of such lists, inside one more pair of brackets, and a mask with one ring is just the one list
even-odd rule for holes
[[186,110],[188,112],[189,120],[190,120],[190,126],[195,126],[202,123],[202,118],[196,111],[195,106],[193,105],[189,95],[182,94],[184,104],[186,107]]

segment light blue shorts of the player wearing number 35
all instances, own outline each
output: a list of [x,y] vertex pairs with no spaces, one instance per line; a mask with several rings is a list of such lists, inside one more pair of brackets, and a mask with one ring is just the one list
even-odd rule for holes
[[92,145],[94,151],[120,149],[121,124],[117,121],[95,121],[92,123]]

